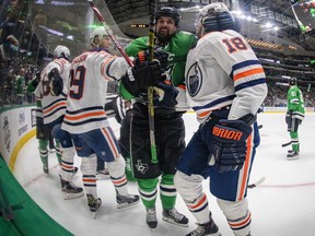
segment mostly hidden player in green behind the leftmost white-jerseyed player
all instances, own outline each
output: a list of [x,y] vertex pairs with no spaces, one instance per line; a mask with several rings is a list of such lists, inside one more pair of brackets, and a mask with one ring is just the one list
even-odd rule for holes
[[[33,93],[40,82],[40,71],[36,71],[35,76],[27,83],[27,92]],[[61,166],[61,154],[59,150],[59,143],[54,142],[51,130],[48,125],[44,125],[44,115],[42,108],[42,102],[36,101],[36,139],[38,140],[38,150],[40,161],[43,163],[43,170],[45,174],[49,173],[48,167],[48,145],[49,149],[55,148],[57,150],[58,163]]]

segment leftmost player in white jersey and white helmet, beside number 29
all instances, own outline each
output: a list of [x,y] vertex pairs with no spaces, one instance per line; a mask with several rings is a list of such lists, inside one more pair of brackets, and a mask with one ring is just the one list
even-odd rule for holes
[[[58,45],[54,50],[55,59],[40,73],[40,82],[34,94],[42,102],[44,123],[52,130],[52,137],[60,143],[61,157],[61,191],[63,199],[82,197],[83,189],[71,182],[73,175],[73,158],[75,150],[70,133],[61,130],[61,122],[66,113],[67,86],[70,69],[70,50]],[[63,86],[65,84],[65,86]]]

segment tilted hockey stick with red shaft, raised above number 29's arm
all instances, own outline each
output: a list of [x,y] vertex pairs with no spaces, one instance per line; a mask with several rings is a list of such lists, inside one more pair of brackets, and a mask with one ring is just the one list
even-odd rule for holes
[[110,37],[110,39],[113,40],[113,43],[115,44],[115,46],[117,47],[117,49],[119,50],[119,52],[121,54],[121,56],[125,58],[125,60],[127,61],[127,63],[130,67],[133,67],[133,63],[131,61],[131,59],[128,57],[128,55],[125,52],[124,48],[121,47],[120,43],[117,40],[117,38],[115,37],[113,31],[108,27],[108,25],[106,25],[105,23],[105,19],[103,17],[103,15],[101,14],[100,10],[96,8],[96,5],[94,4],[93,0],[88,0],[90,3],[90,7],[92,8],[92,10],[94,11],[95,15],[97,16],[97,19],[100,20],[100,22],[103,24],[106,33],[108,34],[108,36]]

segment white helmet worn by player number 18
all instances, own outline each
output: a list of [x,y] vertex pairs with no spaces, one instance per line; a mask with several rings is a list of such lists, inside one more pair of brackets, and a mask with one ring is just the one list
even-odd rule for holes
[[195,26],[201,24],[203,33],[233,30],[240,32],[240,23],[235,21],[223,2],[215,2],[203,7],[197,14]]

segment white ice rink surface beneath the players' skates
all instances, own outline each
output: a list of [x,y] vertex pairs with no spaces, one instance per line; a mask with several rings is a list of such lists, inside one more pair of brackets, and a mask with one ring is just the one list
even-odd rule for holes
[[[189,141],[198,128],[195,114],[185,115],[186,140]],[[110,120],[118,134],[119,126]],[[257,188],[248,189],[248,201],[252,211],[253,236],[314,236],[315,235],[315,114],[306,114],[300,127],[300,158],[287,161],[288,148],[282,143],[290,141],[284,114],[259,114],[261,143],[252,170],[250,182],[261,177],[266,180]],[[129,209],[116,209],[115,190],[110,180],[97,181],[98,197],[103,204],[97,219],[93,220],[86,205],[85,197],[63,200],[58,178],[59,166],[55,153],[49,154],[48,175],[43,173],[38,142],[31,139],[19,153],[14,175],[52,219],[78,236],[184,236],[195,229],[196,221],[178,197],[176,208],[189,217],[189,227],[179,227],[162,221],[160,199],[156,201],[159,225],[151,232],[145,224],[145,210],[142,203]],[[75,166],[80,166],[75,157]],[[82,186],[80,174],[74,184]],[[208,191],[209,206],[223,236],[232,236],[224,215],[217,205],[215,199]],[[129,184],[130,192],[138,193],[137,185]]]

